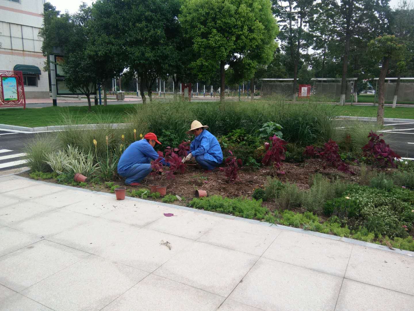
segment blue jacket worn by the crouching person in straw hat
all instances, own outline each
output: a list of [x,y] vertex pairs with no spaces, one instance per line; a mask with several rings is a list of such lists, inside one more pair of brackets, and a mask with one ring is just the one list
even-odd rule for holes
[[223,162],[223,152],[217,138],[207,130],[203,130],[190,145],[190,152],[193,157],[204,155],[206,160],[217,163]]

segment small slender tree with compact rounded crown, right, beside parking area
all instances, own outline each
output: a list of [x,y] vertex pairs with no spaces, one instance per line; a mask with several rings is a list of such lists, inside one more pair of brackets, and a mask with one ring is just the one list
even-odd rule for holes
[[401,44],[394,35],[385,34],[379,36],[368,44],[368,51],[371,56],[381,61],[380,77],[378,79],[378,111],[377,123],[384,123],[384,82],[391,59],[401,59],[405,51],[404,44]]

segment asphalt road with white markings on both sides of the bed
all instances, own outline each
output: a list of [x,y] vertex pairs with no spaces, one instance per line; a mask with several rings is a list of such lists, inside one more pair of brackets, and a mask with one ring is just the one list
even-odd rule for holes
[[[343,121],[342,121],[343,122]],[[372,122],[372,121],[366,121]],[[414,122],[385,121],[385,130],[390,135],[390,146],[402,158],[414,160]],[[43,134],[51,134],[43,133]],[[19,133],[0,129],[0,171],[24,167],[24,146],[34,133]]]

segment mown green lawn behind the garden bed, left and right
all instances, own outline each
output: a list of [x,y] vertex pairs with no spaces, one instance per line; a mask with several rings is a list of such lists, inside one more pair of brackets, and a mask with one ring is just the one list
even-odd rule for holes
[[[2,108],[0,109],[0,124],[36,127],[64,124],[63,112],[70,111],[76,116],[75,124],[95,123],[97,119],[105,119],[108,123],[121,123],[125,112],[132,110],[136,104],[117,104],[92,106],[88,112],[87,106],[82,107],[46,107],[46,108]],[[376,117],[377,106],[332,106],[337,115],[354,117]],[[92,117],[91,117],[92,116]],[[385,107],[385,118],[414,119],[414,107]]]

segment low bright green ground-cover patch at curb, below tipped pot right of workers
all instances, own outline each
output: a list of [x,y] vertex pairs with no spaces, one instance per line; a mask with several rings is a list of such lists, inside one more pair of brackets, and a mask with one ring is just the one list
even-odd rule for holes
[[262,200],[236,198],[223,198],[219,195],[211,197],[195,198],[190,202],[190,206],[196,209],[204,209],[205,211],[217,211],[224,214],[234,214],[248,219],[265,218],[268,213],[266,207],[262,207]]

